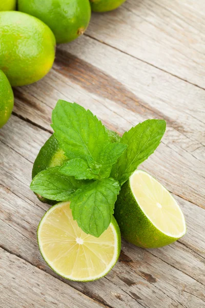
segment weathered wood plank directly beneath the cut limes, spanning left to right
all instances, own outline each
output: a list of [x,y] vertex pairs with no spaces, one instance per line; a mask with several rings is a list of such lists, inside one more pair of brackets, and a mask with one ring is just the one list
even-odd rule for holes
[[[32,161],[37,147],[40,148],[49,133],[12,116],[0,135],[3,141],[0,144],[0,178],[3,184],[0,195],[4,205],[1,208],[1,245],[55,276],[40,257],[35,235],[40,217],[48,205],[40,203],[29,189]],[[39,136],[37,144],[34,142],[36,136]],[[27,140],[29,144],[26,146]],[[188,235],[183,238],[188,248],[176,242],[159,251],[146,251],[123,241],[120,262],[106,278],[86,284],[67,283],[115,308],[154,308],[159,307],[161,302],[163,308],[177,305],[202,307],[204,241],[200,232],[204,210],[180,198],[178,200],[188,223]]]

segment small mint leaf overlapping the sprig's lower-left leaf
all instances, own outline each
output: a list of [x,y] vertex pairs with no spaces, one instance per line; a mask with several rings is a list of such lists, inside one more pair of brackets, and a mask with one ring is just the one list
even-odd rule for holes
[[66,162],[60,167],[59,171],[66,176],[74,176],[78,180],[98,178],[93,174],[87,161],[80,158],[74,158]]

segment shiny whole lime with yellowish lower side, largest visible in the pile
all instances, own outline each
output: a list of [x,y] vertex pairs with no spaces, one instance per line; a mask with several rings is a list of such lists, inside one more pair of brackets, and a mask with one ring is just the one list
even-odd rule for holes
[[55,57],[55,37],[42,21],[16,11],[0,12],[0,69],[11,86],[43,78]]

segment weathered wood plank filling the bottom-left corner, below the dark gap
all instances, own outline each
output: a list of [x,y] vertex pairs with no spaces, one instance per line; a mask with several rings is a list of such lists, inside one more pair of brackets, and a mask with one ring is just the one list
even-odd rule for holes
[[2,308],[105,307],[2,248],[0,280]]

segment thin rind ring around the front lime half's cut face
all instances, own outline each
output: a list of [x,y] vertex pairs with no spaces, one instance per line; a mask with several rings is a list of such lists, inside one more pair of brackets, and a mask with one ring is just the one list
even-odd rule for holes
[[[67,201],[65,201],[67,203]],[[42,224],[42,222],[44,221],[46,215],[52,211],[56,206],[59,206],[61,205],[62,203],[65,203],[65,202],[59,202],[57,204],[55,204],[54,206],[50,207],[49,210],[46,211],[46,213],[44,214],[44,216],[42,217],[42,219],[40,220],[39,224],[38,224],[38,228],[37,228],[37,243],[38,243],[38,247],[39,247],[39,251],[40,251],[40,254],[42,255],[44,261],[48,264],[48,266],[52,269],[52,271],[54,273],[56,273],[57,275],[67,279],[67,280],[72,280],[72,281],[81,281],[81,282],[89,282],[89,281],[94,281],[94,280],[98,280],[104,276],[106,276],[110,271],[111,269],[114,267],[114,265],[116,264],[118,258],[119,258],[119,255],[120,255],[120,250],[121,250],[121,235],[120,235],[120,229],[119,229],[119,226],[116,222],[116,219],[114,218],[114,216],[112,217],[112,221],[111,221],[111,224],[115,230],[115,234],[116,234],[116,238],[117,238],[117,249],[116,249],[116,256],[115,256],[115,259],[113,260],[113,263],[111,264],[111,266],[109,267],[108,271],[106,273],[104,273],[103,275],[99,275],[98,277],[96,277],[95,279],[83,279],[83,280],[75,280],[75,279],[70,279],[68,278],[67,276],[64,276],[64,275],[61,275],[59,274],[57,271],[55,271],[55,269],[49,264],[49,261],[46,260],[46,257],[44,256],[43,252],[42,252],[42,249],[41,249],[41,246],[40,246],[40,239],[39,239],[39,228],[40,228],[40,225]]]

